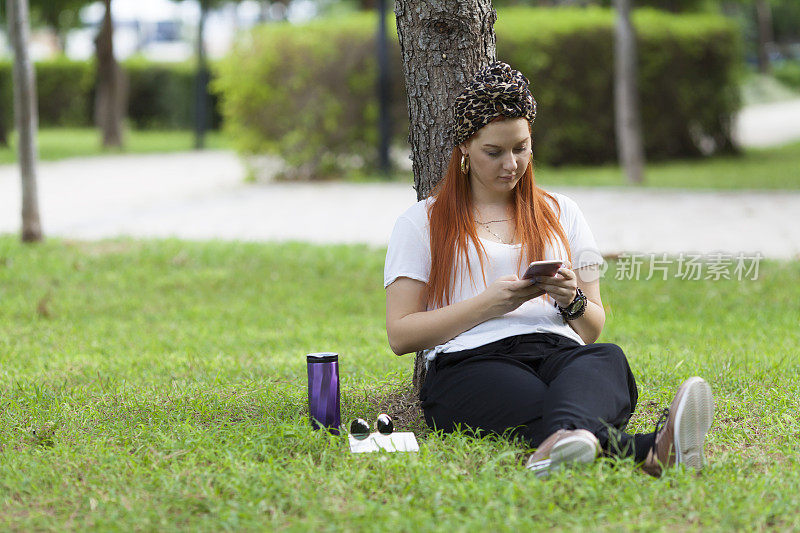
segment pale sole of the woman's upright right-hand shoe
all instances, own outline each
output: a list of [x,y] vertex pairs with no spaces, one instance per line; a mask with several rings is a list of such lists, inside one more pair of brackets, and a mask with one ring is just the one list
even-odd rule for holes
[[703,378],[689,378],[675,413],[675,463],[699,472],[705,466],[703,443],[714,419],[714,397]]

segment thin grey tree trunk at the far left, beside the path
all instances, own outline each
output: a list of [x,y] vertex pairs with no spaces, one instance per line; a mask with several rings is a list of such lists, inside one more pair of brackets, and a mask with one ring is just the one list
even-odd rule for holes
[[42,240],[36,191],[36,77],[28,55],[28,0],[7,0],[9,37],[14,48],[14,118],[19,133],[22,178],[22,241]]

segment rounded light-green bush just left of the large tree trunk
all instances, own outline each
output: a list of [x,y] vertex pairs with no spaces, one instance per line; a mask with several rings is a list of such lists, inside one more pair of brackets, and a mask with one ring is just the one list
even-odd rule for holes
[[[337,173],[353,159],[355,166],[374,164],[376,23],[373,13],[275,23],[241,40],[218,63],[212,85],[240,151],[278,154],[291,174],[304,178]],[[408,112],[396,33],[393,42],[391,115],[393,137],[402,142]]]

